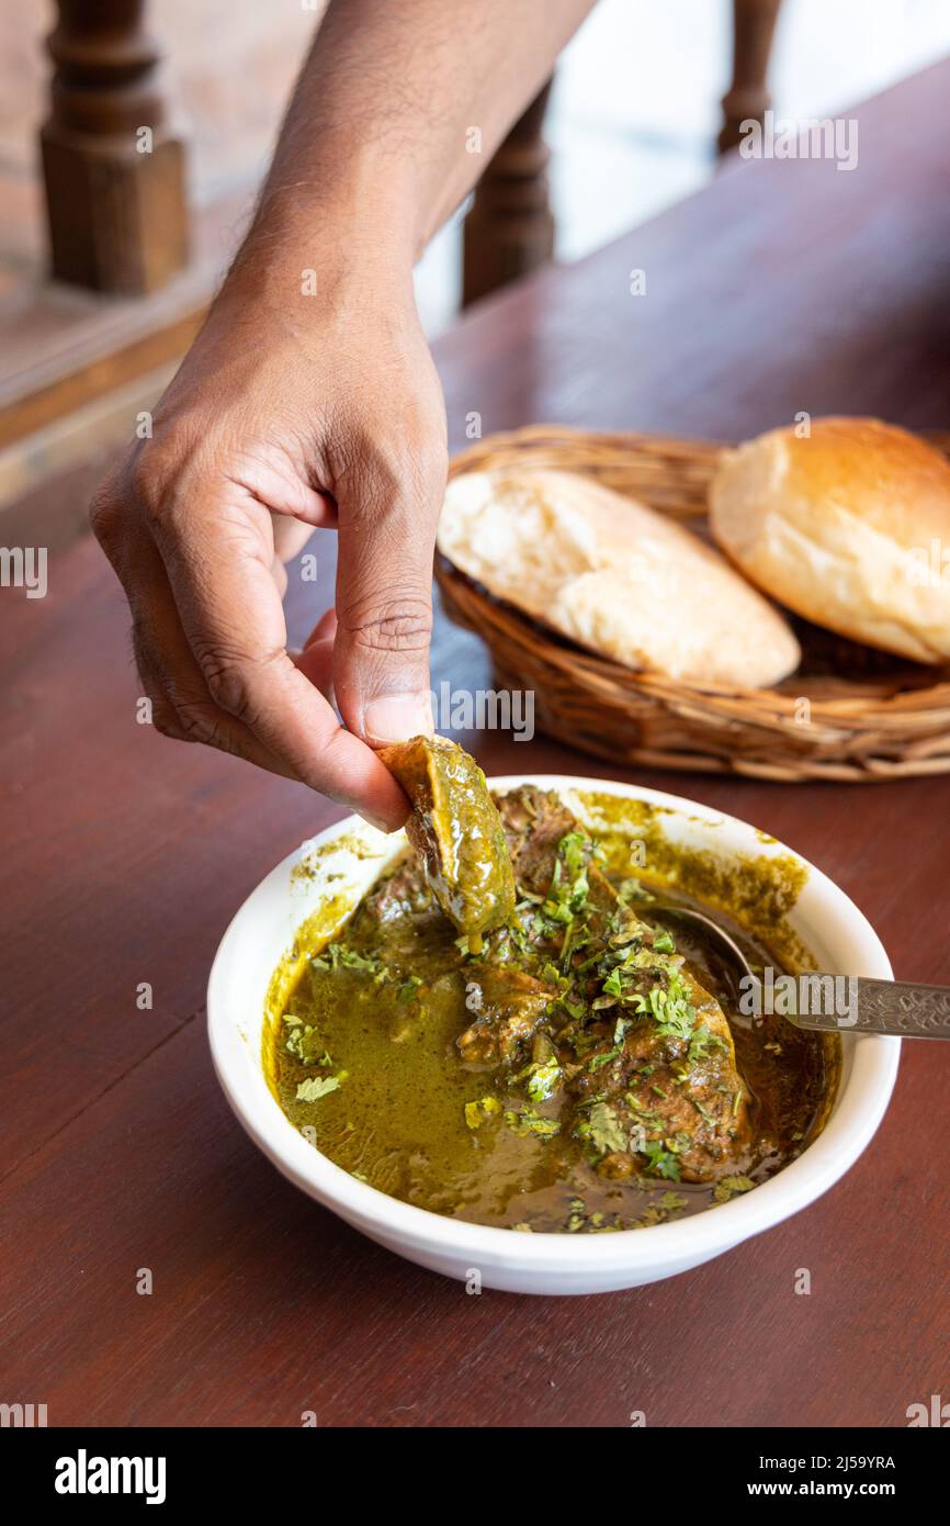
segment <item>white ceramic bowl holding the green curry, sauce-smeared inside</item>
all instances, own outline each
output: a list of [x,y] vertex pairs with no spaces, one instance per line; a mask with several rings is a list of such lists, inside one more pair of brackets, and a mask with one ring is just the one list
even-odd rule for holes
[[[726,858],[791,853],[733,816],[657,790],[564,775],[491,780],[500,790],[523,783],[666,807],[669,813],[660,816],[665,836]],[[207,986],[210,1051],[238,1119],[285,1177],[380,1245],[450,1277],[477,1271],[485,1286],[511,1293],[633,1288],[698,1267],[798,1213],[845,1175],[874,1135],[894,1090],[900,1039],[843,1035],[837,1100],[816,1141],[755,1192],[691,1218],[615,1235],[515,1235],[428,1213],[357,1181],[293,1128],[267,1087],[261,1065],[265,996],[296,929],[326,899],[326,876],[343,874],[332,881],[332,893],[346,887],[355,903],[403,842],[403,833],[387,838],[349,816],[302,844],[244,902],[221,938]],[[314,870],[300,874],[308,855]],[[788,922],[819,969],[891,978],[887,955],[857,906],[805,859],[791,856],[807,868],[807,881]]]

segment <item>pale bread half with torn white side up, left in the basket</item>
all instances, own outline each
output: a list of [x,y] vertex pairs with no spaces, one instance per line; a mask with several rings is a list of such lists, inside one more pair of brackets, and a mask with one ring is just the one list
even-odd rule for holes
[[453,478],[438,539],[496,598],[628,667],[761,688],[799,664],[785,620],[717,551],[587,478]]

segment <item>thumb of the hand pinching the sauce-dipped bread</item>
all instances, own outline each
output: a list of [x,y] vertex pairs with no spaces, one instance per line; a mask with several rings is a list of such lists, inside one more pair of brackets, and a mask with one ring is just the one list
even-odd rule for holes
[[[354,484],[355,487],[355,484]],[[432,562],[442,481],[363,478],[339,504],[334,690],[351,731],[383,746],[432,734]]]

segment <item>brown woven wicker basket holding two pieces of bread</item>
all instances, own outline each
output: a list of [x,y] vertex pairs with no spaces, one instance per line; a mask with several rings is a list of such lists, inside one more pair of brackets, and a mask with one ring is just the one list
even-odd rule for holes
[[[950,436],[930,436],[950,453]],[[561,427],[493,435],[451,473],[558,467],[639,497],[704,534],[723,447]],[[540,626],[436,555],[447,612],[483,638],[500,688],[534,690],[535,723],[610,761],[772,780],[950,772],[950,670],[924,668],[794,621],[802,664],[773,690],[694,687],[627,668]]]

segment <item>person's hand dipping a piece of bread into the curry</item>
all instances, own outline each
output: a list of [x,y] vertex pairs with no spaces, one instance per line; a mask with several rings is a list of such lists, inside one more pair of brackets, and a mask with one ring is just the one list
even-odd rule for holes
[[[282,302],[238,270],[152,438],[91,510],[157,728],[398,827],[407,801],[372,748],[432,729],[444,484],[444,403],[410,279],[323,272],[319,298]],[[284,563],[332,525],[335,612],[290,653]]]

